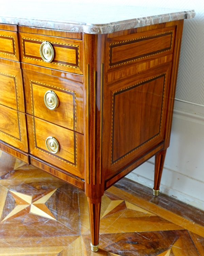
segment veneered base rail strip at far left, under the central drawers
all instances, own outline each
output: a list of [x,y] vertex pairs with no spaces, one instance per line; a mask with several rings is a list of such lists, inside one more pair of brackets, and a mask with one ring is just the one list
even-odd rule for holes
[[20,149],[12,147],[11,145],[5,143],[4,141],[0,140],[0,149],[10,155],[15,156],[16,158],[22,160],[23,162],[30,164],[29,161],[29,154],[26,154]]

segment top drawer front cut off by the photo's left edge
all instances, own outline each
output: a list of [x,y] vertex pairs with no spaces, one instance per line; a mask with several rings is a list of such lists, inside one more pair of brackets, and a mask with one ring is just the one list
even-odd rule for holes
[[17,32],[0,30],[0,58],[19,61]]

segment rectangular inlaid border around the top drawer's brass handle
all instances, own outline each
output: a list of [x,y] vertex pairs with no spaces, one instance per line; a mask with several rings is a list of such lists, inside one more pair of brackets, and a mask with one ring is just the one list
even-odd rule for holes
[[[26,55],[25,42],[33,43],[33,41],[36,44],[41,44],[45,40],[39,40],[39,39],[32,39],[32,38],[22,37],[23,58],[45,62],[41,57]],[[60,66],[65,66],[65,67],[72,67],[73,69],[80,69],[79,45],[57,43],[57,42],[51,42],[51,41],[49,41],[49,42],[52,44],[52,46],[74,49],[76,51],[76,58],[75,58],[76,64],[75,63],[64,62],[64,61],[60,61],[60,60],[55,60],[55,59],[53,59],[50,62],[50,64],[55,64],[55,65],[60,65]]]

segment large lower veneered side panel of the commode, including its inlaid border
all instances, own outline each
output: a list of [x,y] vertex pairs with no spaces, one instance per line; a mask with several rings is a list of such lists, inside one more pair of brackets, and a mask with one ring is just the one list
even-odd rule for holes
[[104,86],[105,179],[164,140],[170,72],[171,62]]

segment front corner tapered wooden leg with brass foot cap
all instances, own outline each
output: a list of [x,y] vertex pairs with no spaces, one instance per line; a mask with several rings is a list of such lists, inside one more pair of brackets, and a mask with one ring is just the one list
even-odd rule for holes
[[88,198],[89,220],[91,228],[91,250],[99,250],[99,225],[101,213],[101,197],[97,199]]

